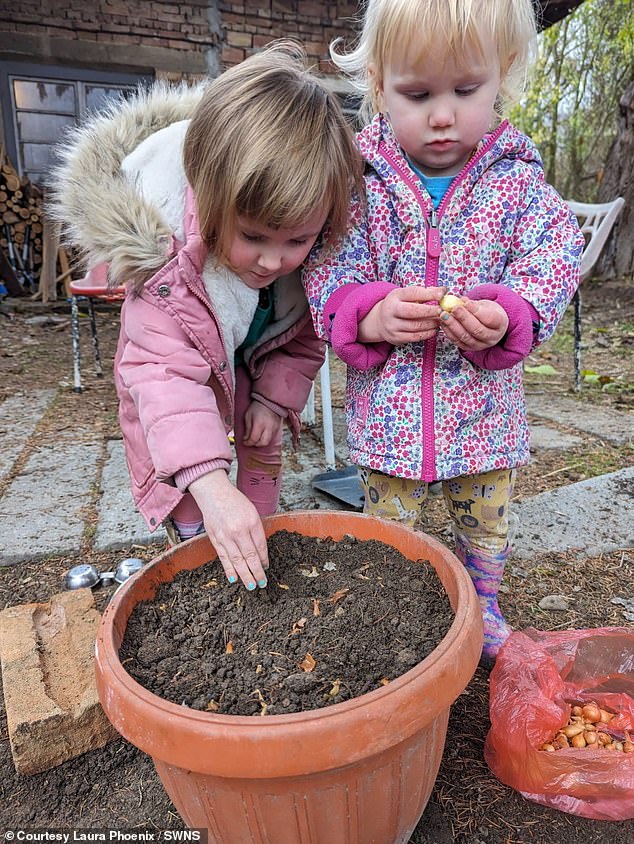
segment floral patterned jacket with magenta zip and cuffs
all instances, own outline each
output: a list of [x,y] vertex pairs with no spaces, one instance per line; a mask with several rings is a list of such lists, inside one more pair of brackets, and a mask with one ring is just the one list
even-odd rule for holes
[[[508,122],[483,138],[437,211],[382,115],[358,144],[366,202],[355,202],[339,251],[317,247],[303,278],[317,333],[348,365],[351,460],[425,481],[525,464],[522,360],[553,334],[579,283],[576,219]],[[359,342],[372,307],[412,284],[496,299],[507,334],[477,353],[443,332],[403,346]]]

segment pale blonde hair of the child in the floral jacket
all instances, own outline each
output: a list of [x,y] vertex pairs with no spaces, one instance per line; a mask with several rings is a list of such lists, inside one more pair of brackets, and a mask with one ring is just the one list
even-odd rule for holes
[[367,0],[361,33],[349,53],[340,53],[342,39],[330,45],[333,62],[363,94],[368,116],[380,111],[376,81],[368,75],[374,64],[383,80],[394,56],[420,60],[438,44],[460,60],[465,45],[485,56],[484,38],[497,45],[502,82],[496,103],[501,117],[524,87],[537,35],[531,0]]

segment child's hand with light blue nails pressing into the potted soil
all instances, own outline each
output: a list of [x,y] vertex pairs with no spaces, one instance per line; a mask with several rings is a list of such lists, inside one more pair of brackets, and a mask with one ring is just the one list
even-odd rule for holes
[[234,487],[224,469],[197,478],[189,491],[229,582],[240,578],[247,589],[266,586],[266,536],[260,515],[246,495]]

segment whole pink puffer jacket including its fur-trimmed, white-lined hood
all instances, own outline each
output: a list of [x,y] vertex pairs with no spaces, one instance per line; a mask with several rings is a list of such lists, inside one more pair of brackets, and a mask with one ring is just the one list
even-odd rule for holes
[[[234,353],[258,304],[200,237],[182,149],[201,95],[157,83],[113,104],[76,130],[55,173],[68,239],[128,288],[115,382],[132,493],[150,530],[181,499],[188,474],[230,466]],[[272,298],[272,322],[244,360],[252,397],[296,438],[324,344],[299,273],[278,279]]]

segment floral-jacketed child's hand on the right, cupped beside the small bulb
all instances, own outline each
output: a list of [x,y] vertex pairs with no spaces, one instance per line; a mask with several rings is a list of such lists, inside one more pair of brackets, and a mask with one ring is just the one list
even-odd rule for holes
[[490,299],[466,299],[450,314],[443,313],[440,327],[459,349],[479,352],[496,346],[506,334],[509,318],[501,305]]

